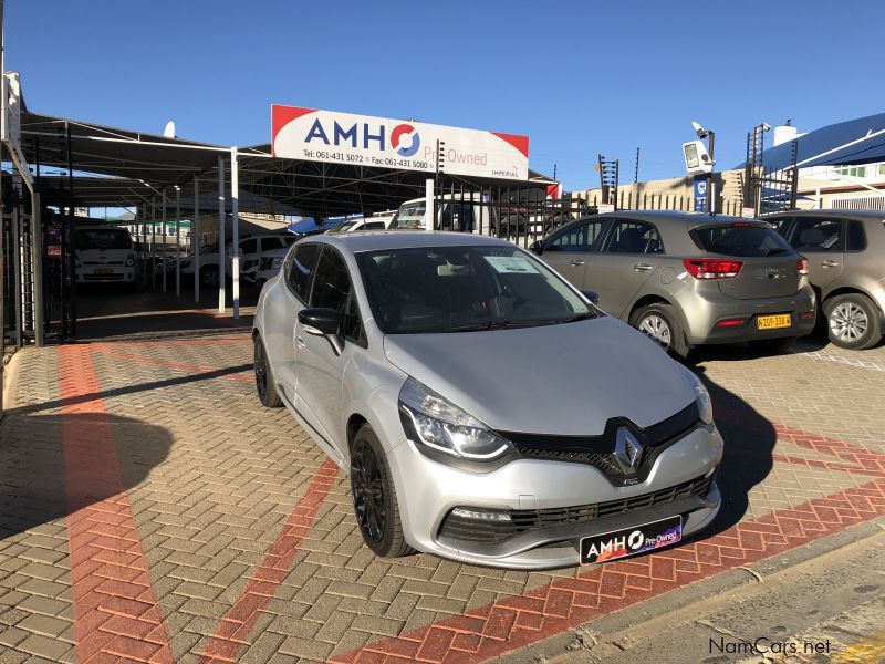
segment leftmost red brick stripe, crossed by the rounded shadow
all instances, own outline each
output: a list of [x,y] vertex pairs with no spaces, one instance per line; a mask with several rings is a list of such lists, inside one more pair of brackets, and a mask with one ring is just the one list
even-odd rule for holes
[[[59,349],[59,376],[65,402],[101,392],[88,347]],[[84,414],[95,417],[64,417]],[[104,403],[63,403],[62,415],[77,661],[171,662]]]

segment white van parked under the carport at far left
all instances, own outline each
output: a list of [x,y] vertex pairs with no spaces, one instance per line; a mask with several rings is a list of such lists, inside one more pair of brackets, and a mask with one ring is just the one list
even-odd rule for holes
[[83,226],[74,231],[77,283],[135,287],[135,247],[129,231],[115,226]]

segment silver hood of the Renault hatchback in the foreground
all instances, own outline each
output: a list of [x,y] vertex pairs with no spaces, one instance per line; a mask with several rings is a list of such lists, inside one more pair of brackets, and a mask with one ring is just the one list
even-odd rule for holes
[[645,428],[688,406],[679,366],[613,317],[561,325],[388,334],[387,360],[503,432],[600,435],[611,417]]

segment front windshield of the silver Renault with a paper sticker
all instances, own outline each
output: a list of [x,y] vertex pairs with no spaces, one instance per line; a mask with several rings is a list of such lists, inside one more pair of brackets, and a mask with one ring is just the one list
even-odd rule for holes
[[357,253],[386,334],[470,332],[594,318],[555,272],[517,247],[420,247]]

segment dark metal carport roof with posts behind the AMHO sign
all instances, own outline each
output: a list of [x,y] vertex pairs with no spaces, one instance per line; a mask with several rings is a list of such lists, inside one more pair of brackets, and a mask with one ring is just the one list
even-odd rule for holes
[[[27,107],[21,113],[20,144],[44,196],[42,205],[66,209],[72,218],[74,207],[136,207],[136,221],[144,228],[146,222],[165,221],[169,211],[176,218],[194,215],[198,220],[200,212],[216,210],[219,253],[225,256],[229,212],[235,318],[240,307],[241,211],[306,217],[372,214],[424,196],[427,180],[427,174],[413,170],[275,157],[268,144],[243,148],[212,145],[33,113]],[[456,184],[461,189],[498,186],[539,191],[555,184],[533,172],[525,181],[445,177],[452,193]],[[196,235],[199,237],[199,229]],[[226,261],[219,262],[218,302],[219,311],[225,312]],[[165,270],[163,280],[165,290]],[[175,286],[180,294],[178,269]]]

